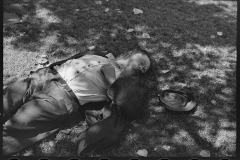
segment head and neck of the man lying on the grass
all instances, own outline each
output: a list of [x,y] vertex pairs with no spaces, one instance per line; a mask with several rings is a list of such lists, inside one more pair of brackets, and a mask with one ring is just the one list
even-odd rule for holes
[[116,60],[124,68],[124,75],[143,74],[150,68],[150,57],[144,50],[131,51]]

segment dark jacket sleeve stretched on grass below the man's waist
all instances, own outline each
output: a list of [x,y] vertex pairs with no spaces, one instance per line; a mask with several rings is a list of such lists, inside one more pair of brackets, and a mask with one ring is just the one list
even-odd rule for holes
[[78,137],[78,154],[91,154],[112,145],[119,138],[125,125],[120,108],[109,102],[105,105],[103,120],[94,123]]

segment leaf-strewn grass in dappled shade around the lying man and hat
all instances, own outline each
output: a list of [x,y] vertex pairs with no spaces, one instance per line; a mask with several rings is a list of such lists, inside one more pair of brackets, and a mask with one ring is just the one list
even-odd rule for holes
[[[4,12],[23,22],[3,28],[3,85],[26,76],[39,55],[50,63],[90,46],[115,56],[138,46],[151,52],[155,75],[145,117],[129,123],[114,146],[90,157],[236,156],[236,12],[235,1],[87,0],[4,1]],[[109,11],[105,11],[109,8]],[[143,10],[134,15],[133,8]],[[119,10],[117,10],[119,9]],[[134,32],[126,30],[133,28]],[[142,33],[151,38],[141,38]],[[217,32],[222,32],[218,36]],[[169,71],[169,72],[164,72]],[[167,112],[156,92],[183,89],[194,93],[195,113]],[[77,157],[76,137],[86,128],[80,119],[16,155]]]

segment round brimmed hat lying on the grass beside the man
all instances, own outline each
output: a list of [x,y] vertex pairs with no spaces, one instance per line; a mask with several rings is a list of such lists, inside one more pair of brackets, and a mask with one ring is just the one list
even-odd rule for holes
[[164,90],[158,95],[159,102],[172,111],[190,111],[197,103],[192,94],[179,90]]

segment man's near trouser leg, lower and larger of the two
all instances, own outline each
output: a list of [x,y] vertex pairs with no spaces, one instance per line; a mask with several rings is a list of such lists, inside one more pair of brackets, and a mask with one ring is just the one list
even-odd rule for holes
[[77,115],[78,107],[60,83],[50,82],[3,125],[3,155],[19,152],[60,130]]

